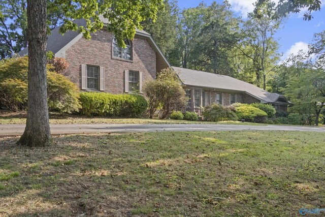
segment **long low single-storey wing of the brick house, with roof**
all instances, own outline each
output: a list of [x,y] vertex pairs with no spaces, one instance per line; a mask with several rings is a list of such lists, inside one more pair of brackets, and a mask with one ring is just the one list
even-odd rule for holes
[[233,103],[271,104],[276,110],[287,111],[290,103],[284,96],[270,93],[253,84],[225,75],[173,67],[189,98],[187,109],[200,113],[212,103],[229,106]]

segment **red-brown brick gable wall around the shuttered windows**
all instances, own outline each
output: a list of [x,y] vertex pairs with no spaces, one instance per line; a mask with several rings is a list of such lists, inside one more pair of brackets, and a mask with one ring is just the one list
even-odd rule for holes
[[69,63],[68,77],[81,88],[81,64],[105,67],[105,92],[124,92],[124,70],[141,71],[143,83],[156,78],[156,54],[146,39],[132,41],[133,60],[112,56],[113,34],[100,30],[91,34],[91,40],[81,38],[66,51]]

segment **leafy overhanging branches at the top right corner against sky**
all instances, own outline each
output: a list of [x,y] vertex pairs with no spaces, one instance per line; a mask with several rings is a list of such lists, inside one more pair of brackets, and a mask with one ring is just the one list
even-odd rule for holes
[[[257,16],[262,17],[264,15],[264,12],[261,11],[259,7],[265,3],[273,5],[273,3],[270,3],[268,0],[258,0],[254,10]],[[276,13],[273,13],[272,17],[278,19],[289,13],[299,13],[302,9],[307,8],[307,12],[304,13],[304,20],[311,20],[313,18],[311,13],[313,11],[319,11],[320,6],[321,0],[280,0],[276,6]],[[269,13],[269,15],[271,15],[271,13]]]

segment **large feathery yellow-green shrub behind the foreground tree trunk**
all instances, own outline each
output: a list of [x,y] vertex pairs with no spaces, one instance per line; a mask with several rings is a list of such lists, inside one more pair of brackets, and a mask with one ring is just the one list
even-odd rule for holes
[[[27,109],[27,71],[28,57],[0,61],[0,104],[13,111]],[[68,78],[53,72],[51,65],[47,65],[47,86],[49,110],[60,113],[79,110],[78,87]]]

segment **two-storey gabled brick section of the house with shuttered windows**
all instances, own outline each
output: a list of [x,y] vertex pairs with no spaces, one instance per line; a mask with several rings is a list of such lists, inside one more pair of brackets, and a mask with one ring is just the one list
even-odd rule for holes
[[[104,23],[107,20],[100,17]],[[84,20],[76,20],[85,25]],[[52,30],[47,50],[64,57],[69,67],[64,73],[83,91],[122,94],[142,92],[143,83],[156,78],[156,73],[171,67],[151,35],[137,30],[134,40],[125,40],[126,48],[117,45],[114,35],[104,28],[86,40],[82,34],[69,31],[63,36],[59,27]],[[27,48],[19,52],[26,55]]]

